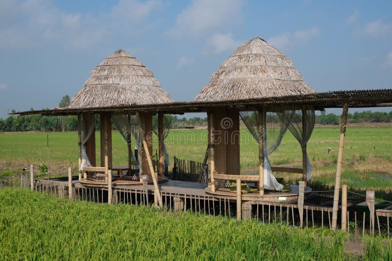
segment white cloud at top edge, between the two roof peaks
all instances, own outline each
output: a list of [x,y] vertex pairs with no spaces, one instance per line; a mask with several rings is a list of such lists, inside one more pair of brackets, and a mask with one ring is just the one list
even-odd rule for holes
[[203,36],[242,21],[243,0],[194,0],[177,15],[170,36]]

